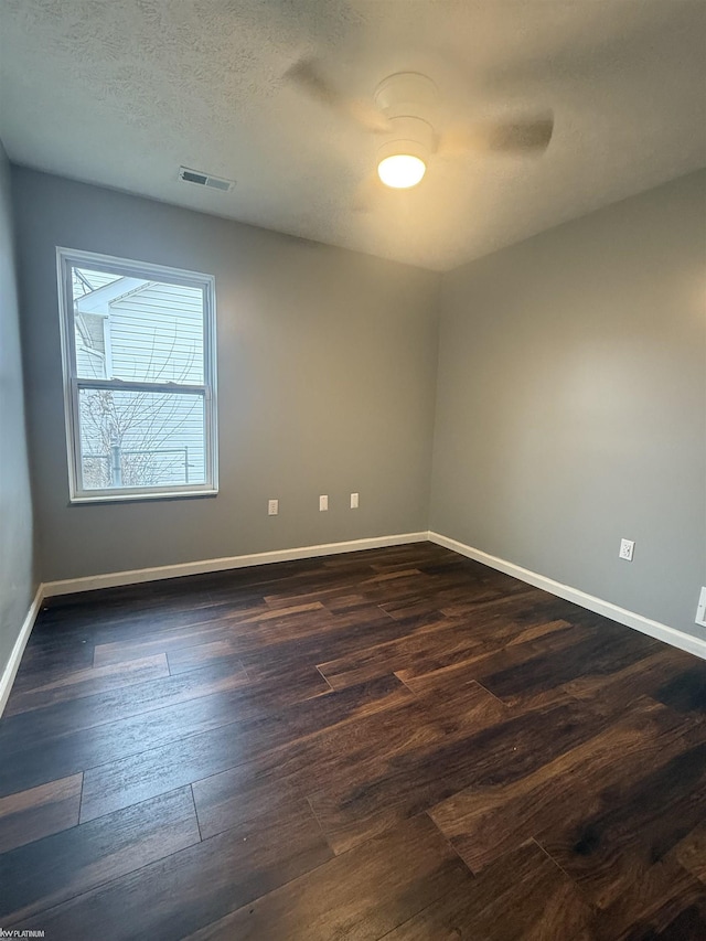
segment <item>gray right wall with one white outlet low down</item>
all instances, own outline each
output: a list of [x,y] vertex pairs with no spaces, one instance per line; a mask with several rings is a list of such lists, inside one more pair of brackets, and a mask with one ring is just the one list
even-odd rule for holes
[[693,174],[445,277],[430,506],[446,536],[702,637],[705,195]]

